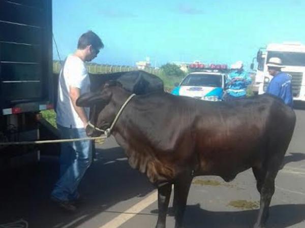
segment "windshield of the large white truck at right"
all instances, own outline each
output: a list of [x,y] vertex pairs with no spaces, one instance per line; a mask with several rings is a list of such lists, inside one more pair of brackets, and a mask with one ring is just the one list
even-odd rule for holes
[[272,57],[282,59],[284,66],[305,67],[305,53],[269,51],[267,62]]

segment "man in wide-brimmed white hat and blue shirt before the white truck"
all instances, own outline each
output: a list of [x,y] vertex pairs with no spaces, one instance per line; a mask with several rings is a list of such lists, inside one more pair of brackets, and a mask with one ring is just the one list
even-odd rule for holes
[[266,93],[280,97],[283,102],[292,107],[293,95],[291,87],[291,76],[281,71],[283,67],[282,60],[278,57],[272,57],[267,63],[268,72],[271,79]]

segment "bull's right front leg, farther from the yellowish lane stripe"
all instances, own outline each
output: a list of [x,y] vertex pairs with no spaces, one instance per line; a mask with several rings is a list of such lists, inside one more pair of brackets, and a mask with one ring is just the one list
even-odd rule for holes
[[182,220],[183,220],[184,212],[186,209],[188,194],[189,194],[192,180],[193,180],[193,177],[191,175],[186,175],[184,177],[179,178],[174,183],[173,209],[174,209],[175,220],[176,220],[175,228],[182,227]]

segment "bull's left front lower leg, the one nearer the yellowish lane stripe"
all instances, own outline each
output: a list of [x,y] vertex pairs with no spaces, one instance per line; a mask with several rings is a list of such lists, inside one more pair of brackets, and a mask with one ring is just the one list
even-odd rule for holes
[[166,215],[168,210],[168,203],[170,199],[170,193],[172,184],[165,184],[158,187],[158,222],[156,228],[165,228]]

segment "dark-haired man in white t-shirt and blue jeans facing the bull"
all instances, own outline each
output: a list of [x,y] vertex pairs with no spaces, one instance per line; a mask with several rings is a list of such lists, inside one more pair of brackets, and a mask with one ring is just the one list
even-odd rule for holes
[[[85,62],[97,57],[101,48],[104,48],[101,39],[93,31],[86,32],[60,71],[56,122],[63,139],[86,138],[89,108],[76,106],[76,100],[90,91]],[[51,200],[66,210],[75,211],[75,202],[79,200],[77,187],[92,162],[92,142],[62,143],[60,149],[60,178],[51,193]]]

